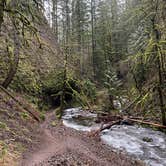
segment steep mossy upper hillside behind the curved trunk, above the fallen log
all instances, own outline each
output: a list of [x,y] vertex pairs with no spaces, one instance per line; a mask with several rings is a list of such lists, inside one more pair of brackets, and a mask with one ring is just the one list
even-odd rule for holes
[[[35,27],[38,30],[36,34],[25,32],[24,37],[20,35],[19,65],[10,85],[19,92],[36,93],[40,89],[42,78],[63,66],[63,55],[46,20],[40,18],[36,21]],[[0,42],[0,84],[2,84],[14,60],[13,31],[9,20],[3,24]]]

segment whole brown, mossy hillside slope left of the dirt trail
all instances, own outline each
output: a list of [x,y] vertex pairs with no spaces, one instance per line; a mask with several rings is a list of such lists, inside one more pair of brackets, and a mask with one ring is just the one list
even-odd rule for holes
[[[43,78],[63,67],[63,55],[46,20],[41,18],[35,26],[38,29],[37,37],[27,32],[26,40],[23,40],[20,35],[19,65],[9,87],[9,92],[16,99],[23,104],[27,103],[29,109],[34,107],[34,110],[36,106],[27,101],[27,94],[38,95]],[[0,84],[12,65],[13,49],[12,27],[10,21],[5,19],[0,34]],[[18,165],[23,151],[37,144],[39,136],[38,123],[23,107],[0,90],[0,165]]]

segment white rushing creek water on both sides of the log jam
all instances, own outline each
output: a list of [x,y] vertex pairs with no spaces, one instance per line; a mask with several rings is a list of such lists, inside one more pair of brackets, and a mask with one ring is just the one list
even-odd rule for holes
[[[99,128],[96,114],[71,108],[64,111],[63,124],[80,131]],[[116,125],[104,130],[101,135],[104,143],[116,151],[144,160],[148,166],[166,166],[166,135],[159,131],[139,126]]]

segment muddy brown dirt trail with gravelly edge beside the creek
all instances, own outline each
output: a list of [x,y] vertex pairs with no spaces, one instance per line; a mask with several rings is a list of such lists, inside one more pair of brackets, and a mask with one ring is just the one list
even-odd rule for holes
[[111,151],[100,140],[63,126],[51,112],[43,124],[38,145],[27,150],[20,166],[140,166],[139,161]]

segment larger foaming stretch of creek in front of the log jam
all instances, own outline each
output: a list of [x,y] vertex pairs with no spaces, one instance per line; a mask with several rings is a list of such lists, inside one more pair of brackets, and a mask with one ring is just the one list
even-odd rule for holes
[[101,133],[101,139],[115,149],[144,160],[147,165],[166,165],[166,135],[138,126],[113,126]]

